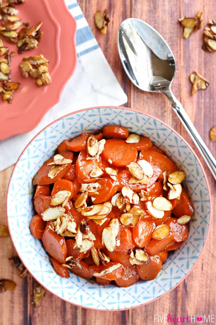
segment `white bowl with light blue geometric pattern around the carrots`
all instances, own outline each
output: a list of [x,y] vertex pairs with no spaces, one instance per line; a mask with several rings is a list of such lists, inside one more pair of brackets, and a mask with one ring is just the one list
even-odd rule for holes
[[[186,187],[195,207],[189,238],[170,253],[157,278],[140,281],[128,288],[103,287],[94,280],[71,274],[61,278],[53,270],[40,240],[29,231],[34,213],[32,177],[50,158],[60,142],[83,131],[95,131],[107,124],[120,124],[132,132],[150,137],[186,172]],[[185,140],[161,121],[121,107],[101,107],[78,111],[51,123],[35,136],[20,155],[11,175],[7,193],[8,226],[18,255],[32,276],[47,290],[75,305],[120,310],[151,302],[176,287],[190,272],[205,244],[210,224],[208,181],[194,151]]]

